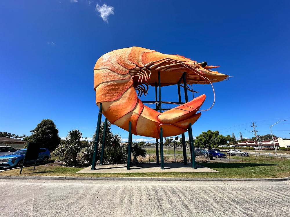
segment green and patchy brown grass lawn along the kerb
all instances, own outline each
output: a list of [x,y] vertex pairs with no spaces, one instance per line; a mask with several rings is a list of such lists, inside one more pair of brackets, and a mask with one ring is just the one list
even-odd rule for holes
[[[236,156],[235,156],[236,157]],[[244,159],[244,158],[243,158]],[[250,160],[250,158],[249,158]],[[23,168],[23,176],[107,176],[107,177],[231,177],[231,178],[281,178],[290,176],[290,160],[251,161],[233,163],[199,163],[202,166],[219,171],[218,173],[76,173],[84,168],[39,165]],[[0,172],[1,176],[18,176],[19,169]]]

